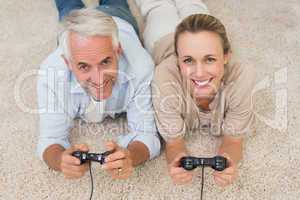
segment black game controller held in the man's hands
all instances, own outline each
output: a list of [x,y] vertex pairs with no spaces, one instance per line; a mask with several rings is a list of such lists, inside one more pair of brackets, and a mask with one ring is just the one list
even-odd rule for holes
[[80,164],[83,164],[86,161],[94,161],[94,162],[98,162],[102,165],[105,161],[105,157],[111,153],[113,153],[113,152],[106,151],[104,153],[88,153],[88,152],[83,152],[83,151],[75,151],[72,153],[72,156],[78,158],[80,160]]

